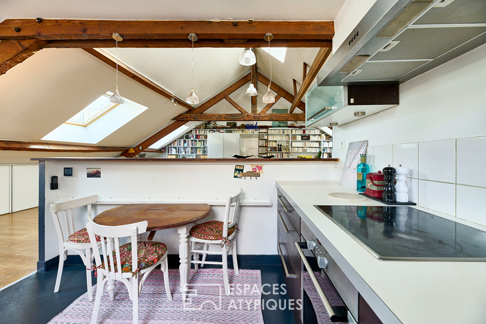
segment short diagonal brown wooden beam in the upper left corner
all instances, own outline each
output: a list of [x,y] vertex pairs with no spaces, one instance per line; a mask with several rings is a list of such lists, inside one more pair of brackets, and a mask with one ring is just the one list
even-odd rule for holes
[[0,42],[0,75],[17,64],[22,63],[37,51],[42,50],[48,41],[38,39],[3,40]]

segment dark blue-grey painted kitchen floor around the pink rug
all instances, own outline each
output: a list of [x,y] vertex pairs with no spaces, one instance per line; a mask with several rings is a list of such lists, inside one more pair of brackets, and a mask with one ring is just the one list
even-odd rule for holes
[[[240,269],[260,269],[262,284],[284,283],[279,265],[240,265]],[[86,280],[80,279],[86,273],[84,266],[65,265],[61,288],[59,292],[53,293],[56,273],[57,268],[45,273],[35,273],[0,291],[0,323],[46,324],[86,292]],[[93,277],[93,283],[95,282]],[[282,299],[283,304],[283,299],[288,299],[288,295],[269,294],[262,298],[272,298],[277,302]],[[293,313],[289,309],[269,310],[265,307],[262,314],[265,324],[295,324]]]

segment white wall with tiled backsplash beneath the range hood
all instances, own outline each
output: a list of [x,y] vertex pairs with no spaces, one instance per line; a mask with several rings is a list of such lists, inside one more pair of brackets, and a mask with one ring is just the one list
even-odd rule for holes
[[368,140],[374,172],[410,169],[410,200],[486,224],[486,45],[400,85],[400,104],[333,128],[341,177],[341,140]]

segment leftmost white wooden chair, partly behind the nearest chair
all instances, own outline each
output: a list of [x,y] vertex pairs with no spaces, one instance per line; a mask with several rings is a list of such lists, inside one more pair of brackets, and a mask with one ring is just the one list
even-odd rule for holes
[[[67,202],[51,204],[51,214],[54,221],[54,227],[56,229],[57,238],[59,241],[59,268],[57,268],[56,284],[54,286],[54,292],[59,291],[59,285],[61,284],[62,270],[64,267],[64,261],[68,256],[68,250],[75,251],[86,266],[86,282],[88,291],[88,300],[93,300],[93,293],[91,290],[91,242],[86,231],[86,228],[82,228],[78,231],[74,228],[74,216],[72,210],[76,207],[87,205],[87,218],[91,219],[91,204],[98,201],[98,196],[93,195],[89,197],[70,200]],[[64,215],[63,215],[64,214]],[[65,221],[66,231],[61,226],[60,219]],[[64,223],[64,222],[63,222]],[[83,221],[84,223],[84,221]],[[99,240],[99,238],[97,238]],[[98,245],[100,243],[98,242]],[[83,253],[83,250],[85,253]]]

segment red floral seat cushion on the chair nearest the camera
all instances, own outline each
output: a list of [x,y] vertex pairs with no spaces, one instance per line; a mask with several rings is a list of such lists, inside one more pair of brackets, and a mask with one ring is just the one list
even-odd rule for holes
[[[126,243],[120,246],[120,262],[121,272],[137,273],[140,270],[148,268],[158,262],[167,252],[167,246],[164,243],[146,241],[137,242],[137,259],[139,268],[136,271],[132,270],[132,243]],[[115,263],[115,272],[117,272],[116,252],[113,251],[113,263]],[[108,258],[108,256],[106,256]],[[109,263],[109,262],[108,262]],[[104,268],[104,260],[101,262],[101,267]],[[108,265],[108,271],[111,267]]]

